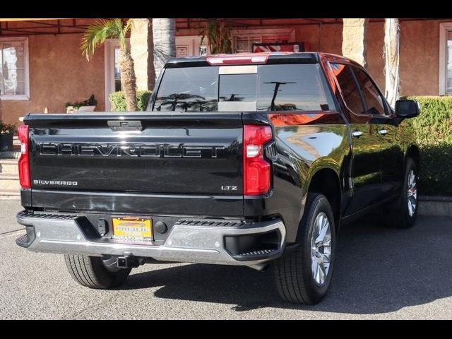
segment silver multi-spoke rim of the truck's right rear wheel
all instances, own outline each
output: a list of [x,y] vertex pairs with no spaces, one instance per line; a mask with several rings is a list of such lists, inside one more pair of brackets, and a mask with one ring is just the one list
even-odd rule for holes
[[328,277],[331,263],[331,227],[325,213],[321,212],[314,221],[311,236],[311,273],[318,285]]

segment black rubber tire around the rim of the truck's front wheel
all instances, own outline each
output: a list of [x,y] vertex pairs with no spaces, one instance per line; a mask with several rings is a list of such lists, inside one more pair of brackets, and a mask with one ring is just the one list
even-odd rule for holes
[[[408,180],[410,177],[410,172],[413,171],[415,174],[415,183],[416,183],[416,206],[414,208],[414,213],[410,213],[410,208],[408,206]],[[405,175],[403,176],[403,188],[400,197],[396,201],[396,203],[391,206],[391,213],[386,217],[387,224],[390,227],[394,228],[410,228],[412,225],[415,225],[417,218],[417,208],[419,207],[419,195],[417,194],[417,182],[418,182],[418,173],[417,166],[414,160],[410,157],[407,158],[407,162],[405,165]]]

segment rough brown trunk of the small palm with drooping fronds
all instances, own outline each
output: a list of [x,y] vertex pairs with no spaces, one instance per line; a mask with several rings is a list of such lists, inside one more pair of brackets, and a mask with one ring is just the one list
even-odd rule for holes
[[121,69],[121,90],[126,97],[127,111],[136,112],[136,78],[133,69],[133,59],[129,50],[120,49],[119,69]]

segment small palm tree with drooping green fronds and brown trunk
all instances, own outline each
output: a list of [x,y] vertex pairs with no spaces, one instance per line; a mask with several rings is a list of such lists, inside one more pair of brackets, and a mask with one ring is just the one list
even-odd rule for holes
[[95,49],[109,38],[119,40],[119,69],[121,70],[121,90],[126,97],[126,107],[129,112],[138,111],[136,105],[136,77],[133,69],[133,59],[127,45],[126,35],[131,29],[131,19],[101,19],[90,25],[83,35],[81,50],[86,59],[93,56]]

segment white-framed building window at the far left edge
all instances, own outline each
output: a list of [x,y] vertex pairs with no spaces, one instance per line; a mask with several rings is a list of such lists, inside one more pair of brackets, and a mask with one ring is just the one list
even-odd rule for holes
[[30,100],[28,37],[0,37],[0,99]]

